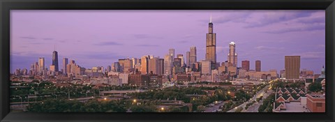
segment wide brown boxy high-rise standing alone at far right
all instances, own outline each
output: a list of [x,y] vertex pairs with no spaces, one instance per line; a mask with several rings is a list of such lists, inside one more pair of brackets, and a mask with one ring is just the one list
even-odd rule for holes
[[300,56],[285,56],[286,79],[298,79],[300,71]]

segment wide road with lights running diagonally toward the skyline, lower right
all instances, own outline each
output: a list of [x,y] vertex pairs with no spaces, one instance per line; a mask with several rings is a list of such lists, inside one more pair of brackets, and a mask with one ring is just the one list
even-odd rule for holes
[[[247,102],[244,102],[243,104],[239,105],[238,107],[235,107],[233,109],[230,109],[228,112],[235,112],[235,110],[239,107],[242,107],[243,110],[242,112],[246,112],[246,110],[244,109],[246,107],[246,105],[249,103],[249,102],[253,102],[253,100],[256,100],[257,98],[260,98],[260,96],[263,96],[263,99],[265,98],[265,90],[268,90],[269,89],[269,85],[268,86],[265,86],[263,89],[261,89],[260,91],[258,91],[255,96],[253,96],[253,98],[251,98],[251,100],[248,100]],[[267,94],[267,93],[266,93]],[[257,103],[257,102],[256,102]],[[258,103],[258,104],[262,104],[262,103]],[[255,105],[255,107],[260,107],[260,105]],[[258,112],[258,107],[255,108],[257,109],[257,112]],[[252,109],[253,110],[253,109]]]

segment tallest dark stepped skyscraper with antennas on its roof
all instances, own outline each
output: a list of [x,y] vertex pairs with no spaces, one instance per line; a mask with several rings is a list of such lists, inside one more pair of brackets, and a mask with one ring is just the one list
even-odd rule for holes
[[208,26],[208,33],[206,33],[206,61],[216,63],[216,33],[213,33],[213,23],[211,18]]

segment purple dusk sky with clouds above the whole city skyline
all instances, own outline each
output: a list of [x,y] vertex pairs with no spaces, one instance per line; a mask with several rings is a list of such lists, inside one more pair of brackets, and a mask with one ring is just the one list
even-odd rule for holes
[[325,65],[325,10],[11,10],[10,71],[27,68],[45,57],[51,65],[57,45],[61,59],[80,66],[110,66],[118,59],[168,49],[184,54],[197,47],[204,59],[206,33],[212,15],[218,62],[227,60],[236,43],[242,60],[262,61],[262,70],[284,69],[285,55],[301,56],[301,69],[320,73]]

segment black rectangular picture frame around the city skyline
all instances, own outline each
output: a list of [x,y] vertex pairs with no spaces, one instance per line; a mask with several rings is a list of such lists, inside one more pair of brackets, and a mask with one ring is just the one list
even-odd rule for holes
[[[1,121],[322,121],[334,119],[334,0],[1,0]],[[10,10],[325,10],[325,113],[27,113],[10,112]]]

